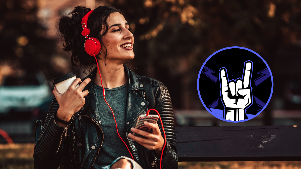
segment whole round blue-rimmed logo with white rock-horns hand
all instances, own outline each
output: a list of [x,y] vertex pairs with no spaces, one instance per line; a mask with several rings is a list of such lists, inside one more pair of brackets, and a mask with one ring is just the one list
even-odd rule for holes
[[270,67],[256,52],[223,48],[207,58],[197,78],[204,107],[216,118],[243,122],[259,115],[273,93]]

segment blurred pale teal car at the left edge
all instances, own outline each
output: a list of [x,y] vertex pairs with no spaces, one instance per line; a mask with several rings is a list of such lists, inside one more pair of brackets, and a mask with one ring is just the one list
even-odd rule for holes
[[0,114],[11,110],[29,112],[51,97],[48,82],[42,72],[23,77],[7,77],[0,86]]

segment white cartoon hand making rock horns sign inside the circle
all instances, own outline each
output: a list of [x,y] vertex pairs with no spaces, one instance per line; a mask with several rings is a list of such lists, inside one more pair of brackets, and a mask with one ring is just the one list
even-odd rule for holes
[[232,79],[228,81],[228,74],[225,67],[219,69],[219,82],[221,100],[225,106],[224,118],[226,120],[244,120],[246,109],[252,105],[251,77],[253,62],[244,62],[244,72],[242,79]]

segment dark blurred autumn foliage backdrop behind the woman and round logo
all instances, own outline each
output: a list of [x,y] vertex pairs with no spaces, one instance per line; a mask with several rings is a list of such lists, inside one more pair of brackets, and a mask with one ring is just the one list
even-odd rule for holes
[[34,71],[42,71],[50,86],[71,71],[84,77],[71,67],[55,28],[57,18],[76,5],[113,5],[123,11],[135,37],[135,58],[127,64],[162,81],[174,109],[204,109],[196,88],[199,69],[207,57],[229,46],[257,52],[272,70],[275,86],[265,124],[272,124],[272,109],[300,109],[297,0],[2,0],[0,81]]

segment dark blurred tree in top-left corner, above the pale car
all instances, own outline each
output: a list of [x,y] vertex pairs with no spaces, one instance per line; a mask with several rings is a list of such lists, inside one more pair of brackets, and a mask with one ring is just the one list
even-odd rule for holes
[[0,1],[0,62],[26,72],[51,73],[50,56],[55,41],[45,37],[45,28],[37,21],[36,0]]

